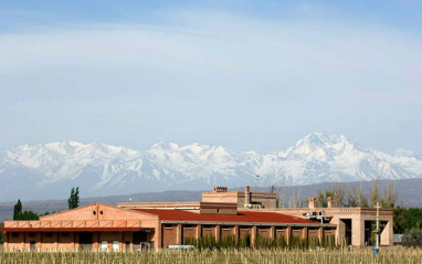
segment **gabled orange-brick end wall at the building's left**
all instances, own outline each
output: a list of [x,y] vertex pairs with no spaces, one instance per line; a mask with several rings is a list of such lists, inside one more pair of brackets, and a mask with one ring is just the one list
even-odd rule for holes
[[[89,222],[91,221],[91,222]],[[99,222],[98,222],[99,221]],[[87,224],[88,223],[88,224]],[[48,237],[45,232],[36,232],[36,226],[55,226],[55,228],[68,228],[68,226],[85,226],[91,224],[105,224],[109,226],[139,226],[147,229],[154,229],[156,232],[147,234],[148,240],[154,243],[156,249],[161,247],[160,235],[160,222],[156,215],[136,212],[127,209],[119,209],[107,204],[95,203],[86,207],[81,207],[74,210],[63,211],[54,214],[50,214],[41,218],[40,221],[6,221],[4,228],[20,226],[33,226],[33,232],[19,232],[19,237],[12,237],[6,243],[6,247],[10,250],[14,249],[30,249],[30,242],[35,241],[36,250],[49,251],[54,249],[65,250],[80,250],[80,233],[68,232],[68,236],[64,236],[63,232],[53,232],[51,237]],[[99,226],[99,228],[107,228]],[[93,249],[99,249],[102,241],[107,241],[112,246],[113,241],[119,241],[119,247],[125,250],[125,242],[130,241],[131,233],[126,232],[101,232],[93,234]],[[34,234],[30,237],[30,234]],[[130,247],[133,245],[130,244]]]

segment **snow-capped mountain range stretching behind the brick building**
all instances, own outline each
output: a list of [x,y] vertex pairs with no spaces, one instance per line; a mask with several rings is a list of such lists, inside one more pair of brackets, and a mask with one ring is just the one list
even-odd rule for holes
[[[260,176],[260,177],[256,177]],[[138,151],[75,141],[0,151],[0,200],[84,197],[212,186],[313,184],[422,177],[422,158],[365,149],[345,136],[313,133],[285,151],[158,142]]]

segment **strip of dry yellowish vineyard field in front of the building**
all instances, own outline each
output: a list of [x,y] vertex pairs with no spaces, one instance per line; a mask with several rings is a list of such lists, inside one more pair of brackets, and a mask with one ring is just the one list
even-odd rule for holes
[[412,247],[372,249],[342,247],[334,250],[203,250],[140,253],[0,253],[0,264],[210,264],[210,263],[312,263],[312,264],[372,264],[422,263],[422,250]]

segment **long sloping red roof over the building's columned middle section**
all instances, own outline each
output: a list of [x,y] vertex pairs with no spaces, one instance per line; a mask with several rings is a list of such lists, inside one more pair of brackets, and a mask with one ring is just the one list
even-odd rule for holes
[[302,218],[295,218],[274,212],[239,211],[236,215],[229,214],[200,214],[183,210],[171,209],[133,209],[135,211],[158,215],[165,221],[192,221],[192,222],[245,222],[245,223],[293,223],[319,224]]

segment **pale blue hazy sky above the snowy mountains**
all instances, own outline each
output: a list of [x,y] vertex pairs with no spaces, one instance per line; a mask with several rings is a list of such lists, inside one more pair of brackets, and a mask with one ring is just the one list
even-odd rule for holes
[[0,1],[0,149],[422,154],[420,1]]

